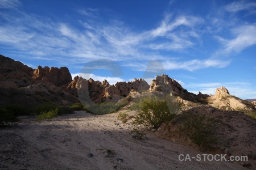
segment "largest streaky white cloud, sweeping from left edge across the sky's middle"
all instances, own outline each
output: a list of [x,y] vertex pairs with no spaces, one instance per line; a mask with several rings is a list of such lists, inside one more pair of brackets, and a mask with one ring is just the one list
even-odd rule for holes
[[[84,27],[82,30],[20,11],[7,13],[3,15],[7,23],[0,27],[0,44],[67,65],[111,59],[144,71],[144,63],[149,59],[160,59],[166,70],[193,71],[226,67],[230,63],[217,59],[170,61],[170,56],[160,53],[162,50],[183,52],[197,44],[201,36],[198,26],[205,21],[196,16],[166,14],[155,29],[135,32],[118,20],[106,24],[100,18],[92,18],[91,14],[99,17],[98,10],[85,8],[79,13],[85,16],[85,19],[77,19],[77,23]],[[157,67],[154,69],[158,70]]]

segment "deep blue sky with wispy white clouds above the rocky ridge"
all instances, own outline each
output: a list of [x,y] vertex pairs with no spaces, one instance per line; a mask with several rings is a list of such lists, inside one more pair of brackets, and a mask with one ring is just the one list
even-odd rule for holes
[[90,65],[84,74],[110,83],[165,73],[195,94],[224,86],[255,99],[256,2],[0,0],[0,54],[73,76]]

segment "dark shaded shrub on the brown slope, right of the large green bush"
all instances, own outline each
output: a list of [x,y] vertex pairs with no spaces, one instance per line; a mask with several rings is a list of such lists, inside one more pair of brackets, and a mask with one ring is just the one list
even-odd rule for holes
[[217,144],[217,125],[213,118],[191,112],[181,114],[179,118],[181,124],[178,125],[177,134],[183,136],[185,140],[190,139],[199,146],[200,150]]

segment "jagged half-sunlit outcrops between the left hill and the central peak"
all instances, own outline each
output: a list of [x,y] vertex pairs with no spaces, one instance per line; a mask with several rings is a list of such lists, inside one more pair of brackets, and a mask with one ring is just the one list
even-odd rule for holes
[[[78,94],[79,98],[82,98],[81,100],[85,101],[85,103],[90,101],[101,103],[109,100],[118,101],[122,97],[128,96],[131,90],[144,91],[148,90],[149,87],[143,79],[134,79],[133,82],[118,82],[110,86],[107,80],[99,82],[76,76],[69,83],[66,90],[71,94]],[[88,101],[88,96],[90,97],[90,101]]]

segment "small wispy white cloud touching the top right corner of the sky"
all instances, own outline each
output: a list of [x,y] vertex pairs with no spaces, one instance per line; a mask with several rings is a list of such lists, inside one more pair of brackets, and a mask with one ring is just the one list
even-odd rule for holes
[[244,1],[232,2],[225,6],[225,9],[229,12],[238,12],[242,10],[256,10],[256,2],[245,3]]

